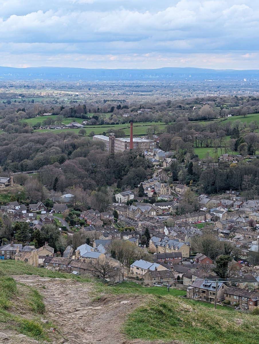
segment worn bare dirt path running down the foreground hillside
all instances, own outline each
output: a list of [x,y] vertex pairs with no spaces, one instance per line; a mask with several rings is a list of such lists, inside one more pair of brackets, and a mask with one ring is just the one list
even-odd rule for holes
[[57,325],[66,343],[153,343],[128,341],[120,332],[126,314],[140,305],[140,297],[109,296],[93,302],[92,283],[27,275],[13,277],[39,289],[44,295],[47,318]]

